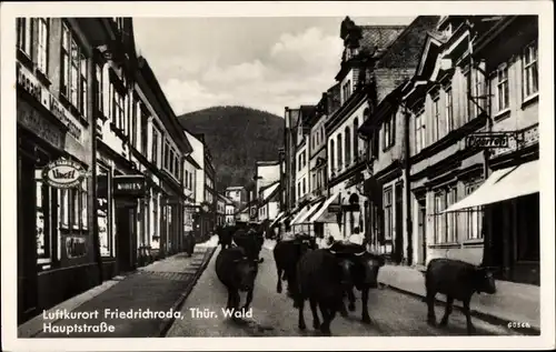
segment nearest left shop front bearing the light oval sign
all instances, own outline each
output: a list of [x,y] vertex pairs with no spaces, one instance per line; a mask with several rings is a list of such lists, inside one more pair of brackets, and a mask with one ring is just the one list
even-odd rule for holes
[[18,63],[18,324],[99,284],[89,133]]

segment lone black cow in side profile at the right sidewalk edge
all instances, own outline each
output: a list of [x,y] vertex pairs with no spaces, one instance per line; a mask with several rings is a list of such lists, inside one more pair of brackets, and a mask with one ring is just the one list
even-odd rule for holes
[[425,288],[427,290],[427,322],[436,325],[435,298],[437,293],[446,294],[446,311],[440,325],[448,324],[454,300],[458,300],[464,303],[468,334],[475,332],[469,312],[473,294],[475,292],[496,293],[496,282],[490,269],[447,258],[433,259],[428,263],[425,272]]

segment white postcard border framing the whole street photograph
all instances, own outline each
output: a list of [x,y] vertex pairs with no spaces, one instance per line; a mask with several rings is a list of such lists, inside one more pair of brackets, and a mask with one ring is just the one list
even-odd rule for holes
[[[529,350],[554,349],[554,8],[550,1],[368,2],[27,2],[1,10],[2,348],[7,351],[181,350]],[[540,336],[464,338],[172,338],[17,339],[16,31],[24,17],[388,17],[418,14],[538,14],[540,121]],[[509,39],[508,39],[509,40]],[[295,323],[295,322],[291,322]]]

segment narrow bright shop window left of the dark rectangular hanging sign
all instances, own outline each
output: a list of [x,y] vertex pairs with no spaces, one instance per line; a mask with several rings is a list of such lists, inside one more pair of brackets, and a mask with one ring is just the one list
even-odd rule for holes
[[111,209],[110,209],[110,172],[108,169],[97,165],[97,221],[100,242],[100,255],[112,257],[112,233],[111,233]]

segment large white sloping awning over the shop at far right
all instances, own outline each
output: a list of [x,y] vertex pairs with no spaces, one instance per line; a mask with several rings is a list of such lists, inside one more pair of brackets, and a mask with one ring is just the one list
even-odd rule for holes
[[445,212],[502,202],[539,191],[538,160],[502,169],[493,174],[467,198],[448,207]]

